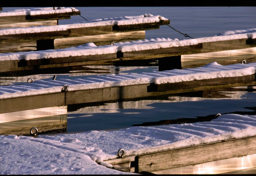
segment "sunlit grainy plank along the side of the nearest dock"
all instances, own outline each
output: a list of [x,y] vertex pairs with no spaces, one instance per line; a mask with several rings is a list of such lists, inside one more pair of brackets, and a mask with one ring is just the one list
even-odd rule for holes
[[138,168],[135,168],[135,171],[155,172],[255,153],[256,136],[229,139],[139,155]]

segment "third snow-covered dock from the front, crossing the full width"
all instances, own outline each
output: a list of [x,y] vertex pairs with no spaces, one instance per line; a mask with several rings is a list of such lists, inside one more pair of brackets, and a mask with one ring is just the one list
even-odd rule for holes
[[[252,38],[248,38],[248,35]],[[181,56],[225,50],[247,49],[252,54],[246,62],[256,61],[256,32],[198,39],[152,39],[118,42],[96,46],[87,43],[58,50],[28,51],[0,54],[0,73],[40,70],[75,65],[114,65],[123,62],[158,60],[159,71],[202,66],[212,59],[185,60]],[[238,51],[234,51],[234,53]],[[241,63],[244,59],[217,58],[219,64]]]

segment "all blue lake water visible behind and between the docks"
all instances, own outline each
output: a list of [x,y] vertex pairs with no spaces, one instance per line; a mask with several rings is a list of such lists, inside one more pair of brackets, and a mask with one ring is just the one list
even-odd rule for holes
[[[81,16],[59,20],[59,24],[80,23],[87,20],[161,15],[170,19],[170,26],[193,38],[212,37],[225,31],[256,27],[256,7],[75,7]],[[3,8],[9,11],[15,8]],[[85,19],[84,19],[85,18]],[[168,26],[146,31],[146,39],[189,39]],[[57,69],[47,74],[1,75],[0,84],[22,84],[27,78],[52,79],[93,74],[127,74],[158,70],[151,66],[84,66],[81,70]],[[204,119],[217,113],[256,114],[256,87],[236,87],[166,95],[125,102],[79,104],[68,107],[68,132],[110,130],[140,125],[144,122],[180,118]],[[184,120],[183,120],[184,121]],[[182,120],[180,120],[182,122]]]

